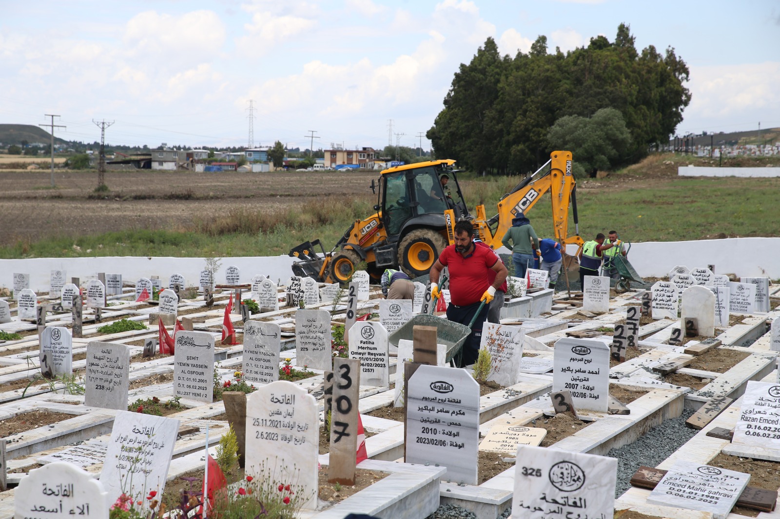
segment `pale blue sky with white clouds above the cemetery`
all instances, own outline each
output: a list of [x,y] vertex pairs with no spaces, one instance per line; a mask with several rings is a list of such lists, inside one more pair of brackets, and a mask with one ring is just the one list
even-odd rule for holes
[[[614,40],[675,48],[691,104],[677,133],[780,126],[778,0],[36,0],[0,2],[0,123],[94,142],[168,145],[281,140],[427,149],[461,63],[487,37],[502,53]],[[393,136],[388,136],[392,120]],[[420,140],[420,132],[422,139]],[[402,134],[396,136],[395,134]]]

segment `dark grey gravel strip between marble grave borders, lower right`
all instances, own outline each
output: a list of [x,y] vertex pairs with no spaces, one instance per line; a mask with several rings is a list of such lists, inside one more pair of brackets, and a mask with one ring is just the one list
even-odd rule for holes
[[615,499],[631,488],[631,476],[640,465],[656,467],[675,450],[683,446],[699,431],[686,427],[685,422],[695,411],[686,409],[683,415],[656,425],[633,443],[619,449],[610,449],[609,457],[618,459],[618,481],[615,484]]

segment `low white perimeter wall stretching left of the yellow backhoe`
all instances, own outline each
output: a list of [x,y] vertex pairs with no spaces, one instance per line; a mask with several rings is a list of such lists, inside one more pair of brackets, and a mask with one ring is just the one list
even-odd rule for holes
[[[293,275],[293,258],[289,256],[242,256],[222,258],[216,274],[217,284],[225,283],[225,269],[231,265],[239,267],[241,282],[250,283],[255,274],[263,274],[275,283]],[[30,288],[33,291],[49,290],[51,270],[65,270],[67,282],[71,277],[80,281],[97,279],[98,272],[122,274],[122,282],[135,283],[140,277],[160,277],[163,286],[168,286],[171,274],[182,274],[189,287],[198,285],[200,271],[206,262],[203,258],[167,258],[147,256],[105,256],[99,258],[31,258],[29,260],[0,260],[0,287],[13,288],[12,275],[15,272],[30,274]]]

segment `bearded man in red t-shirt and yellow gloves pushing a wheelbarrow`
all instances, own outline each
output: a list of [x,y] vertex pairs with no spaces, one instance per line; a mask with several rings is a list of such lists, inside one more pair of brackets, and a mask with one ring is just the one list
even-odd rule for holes
[[[471,328],[471,334],[463,344],[461,367],[477,361],[482,327],[488,318],[490,302],[495,291],[506,281],[507,270],[504,263],[489,247],[477,246],[473,241],[473,227],[470,221],[461,220],[455,224],[455,245],[449,245],[441,251],[438,260],[431,267],[431,297],[440,297],[439,276],[444,267],[449,267],[450,305],[447,307],[447,319],[454,323],[469,326],[477,313],[480,302],[484,307]],[[488,281],[488,272],[495,272],[495,280]]]

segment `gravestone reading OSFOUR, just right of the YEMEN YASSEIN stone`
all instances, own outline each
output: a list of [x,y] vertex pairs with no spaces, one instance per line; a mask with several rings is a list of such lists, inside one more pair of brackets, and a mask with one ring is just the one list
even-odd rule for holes
[[278,324],[246,321],[243,344],[244,378],[261,384],[279,380],[281,348],[282,329]]

